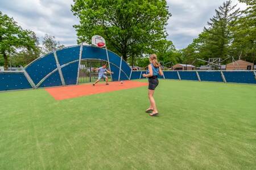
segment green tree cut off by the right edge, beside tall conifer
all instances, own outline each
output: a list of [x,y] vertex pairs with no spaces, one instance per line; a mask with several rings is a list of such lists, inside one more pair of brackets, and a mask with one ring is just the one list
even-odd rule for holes
[[232,44],[233,56],[239,56],[246,61],[255,63],[256,53],[256,1],[240,0],[247,5],[246,10],[242,11],[242,16],[232,27],[234,40]]

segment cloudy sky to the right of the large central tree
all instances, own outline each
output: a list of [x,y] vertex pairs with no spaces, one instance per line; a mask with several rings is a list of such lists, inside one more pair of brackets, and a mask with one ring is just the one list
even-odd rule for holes
[[[214,15],[214,9],[224,0],[167,0],[172,17],[168,20],[168,39],[174,41],[176,48],[185,48],[203,31],[204,26]],[[233,4],[238,1],[233,1]],[[245,4],[238,3],[242,9]]]

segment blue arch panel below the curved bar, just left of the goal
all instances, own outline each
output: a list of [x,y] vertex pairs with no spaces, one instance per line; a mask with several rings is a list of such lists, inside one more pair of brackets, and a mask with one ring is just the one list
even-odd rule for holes
[[78,65],[77,61],[61,68],[66,85],[76,84]]

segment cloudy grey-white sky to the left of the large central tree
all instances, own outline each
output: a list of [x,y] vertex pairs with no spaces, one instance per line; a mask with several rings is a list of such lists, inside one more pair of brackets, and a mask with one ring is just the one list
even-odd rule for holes
[[0,2],[0,10],[14,18],[24,29],[30,29],[38,37],[46,33],[56,37],[64,45],[76,44],[73,25],[79,20],[71,12],[72,0],[26,0]]

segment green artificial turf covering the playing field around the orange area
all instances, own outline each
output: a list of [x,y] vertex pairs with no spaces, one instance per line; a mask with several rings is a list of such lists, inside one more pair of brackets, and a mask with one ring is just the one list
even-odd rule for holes
[[155,99],[159,117],[147,87],[0,93],[0,169],[256,168],[256,86],[161,80]]

